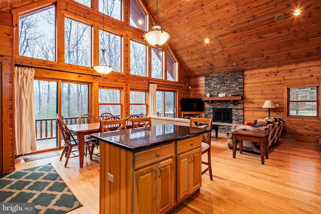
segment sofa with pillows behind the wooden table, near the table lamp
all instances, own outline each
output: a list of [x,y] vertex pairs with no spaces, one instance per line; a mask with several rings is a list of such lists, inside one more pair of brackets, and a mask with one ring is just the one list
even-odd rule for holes
[[[277,143],[284,129],[285,120],[281,117],[264,118],[263,120],[255,120],[253,123],[247,122],[245,125],[236,125],[231,127],[231,132],[227,133],[227,145],[230,149],[233,148],[233,131],[244,129],[250,131],[264,131],[269,132],[268,147]],[[239,149],[239,143],[236,148]],[[260,153],[260,145],[256,142],[243,140],[243,151],[251,151]]]

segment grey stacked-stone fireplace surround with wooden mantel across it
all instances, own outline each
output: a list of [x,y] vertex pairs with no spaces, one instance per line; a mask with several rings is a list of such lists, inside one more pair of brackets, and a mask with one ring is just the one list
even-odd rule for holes
[[[205,94],[218,97],[219,94],[230,96],[243,96],[243,70],[205,76]],[[206,118],[213,118],[213,108],[231,109],[232,123],[243,124],[243,99],[242,100],[213,100],[205,101],[204,113]],[[220,126],[219,132],[226,133],[230,126]]]

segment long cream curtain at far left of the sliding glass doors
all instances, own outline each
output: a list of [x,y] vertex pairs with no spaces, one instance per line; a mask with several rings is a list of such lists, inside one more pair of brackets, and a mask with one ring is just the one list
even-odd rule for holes
[[35,69],[15,67],[16,155],[37,151],[34,76]]

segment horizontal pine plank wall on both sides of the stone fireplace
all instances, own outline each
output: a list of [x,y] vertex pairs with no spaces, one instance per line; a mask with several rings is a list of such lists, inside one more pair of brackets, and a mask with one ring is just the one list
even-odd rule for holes
[[[244,122],[267,117],[268,110],[262,106],[265,100],[272,100],[275,104],[279,104],[279,107],[271,109],[271,117],[279,116],[286,120],[282,136],[293,137],[297,141],[318,142],[321,134],[321,108],[318,108],[318,118],[287,117],[285,108],[287,86],[320,85],[320,69],[321,61],[312,61],[244,71]],[[194,88],[191,90],[191,97],[204,97],[204,79],[191,78],[192,83]],[[320,94],[319,100],[321,100]]]

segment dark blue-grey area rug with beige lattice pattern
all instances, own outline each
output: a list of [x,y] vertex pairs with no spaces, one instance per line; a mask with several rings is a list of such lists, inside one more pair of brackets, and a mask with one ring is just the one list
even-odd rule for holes
[[35,203],[35,213],[65,213],[82,204],[51,164],[0,175],[0,202]]

